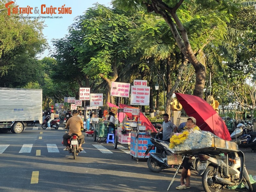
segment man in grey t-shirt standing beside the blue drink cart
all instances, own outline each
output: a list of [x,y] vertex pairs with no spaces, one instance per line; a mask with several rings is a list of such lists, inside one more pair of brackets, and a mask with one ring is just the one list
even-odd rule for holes
[[170,142],[170,135],[172,132],[177,131],[177,127],[171,121],[169,121],[169,115],[167,113],[164,114],[164,122],[162,124],[161,129],[157,132],[160,133],[163,131],[163,139],[164,141]]

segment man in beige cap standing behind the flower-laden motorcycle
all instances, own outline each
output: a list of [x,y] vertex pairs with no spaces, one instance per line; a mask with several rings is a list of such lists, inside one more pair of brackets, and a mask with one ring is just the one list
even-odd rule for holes
[[[201,131],[198,126],[196,126],[196,119],[194,117],[188,117],[186,126],[184,127],[184,131],[194,132],[195,130]],[[191,188],[190,185],[190,170],[195,157],[185,156],[184,160],[182,161],[183,169],[181,170],[181,177],[180,177],[180,186],[176,187],[176,189],[189,189]],[[186,180],[186,184],[184,182]]]

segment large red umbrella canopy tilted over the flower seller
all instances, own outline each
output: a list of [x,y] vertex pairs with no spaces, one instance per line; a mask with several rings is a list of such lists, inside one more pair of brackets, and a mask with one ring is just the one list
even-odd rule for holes
[[196,125],[221,139],[231,140],[226,124],[219,114],[205,100],[194,95],[175,93],[188,116],[196,118]]

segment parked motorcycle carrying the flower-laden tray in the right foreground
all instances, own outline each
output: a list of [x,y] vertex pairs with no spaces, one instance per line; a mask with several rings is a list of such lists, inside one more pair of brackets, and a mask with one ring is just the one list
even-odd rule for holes
[[205,152],[198,155],[198,175],[202,176],[205,192],[220,192],[226,186],[236,186],[241,182],[249,191],[253,191],[248,172],[244,165],[244,153]]

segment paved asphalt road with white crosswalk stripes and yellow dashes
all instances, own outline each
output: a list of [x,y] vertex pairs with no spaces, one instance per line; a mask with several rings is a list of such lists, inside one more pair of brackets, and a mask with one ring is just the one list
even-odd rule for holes
[[[167,191],[175,169],[150,172],[147,159],[131,158],[126,145],[94,142],[85,137],[77,159],[63,151],[63,130],[29,126],[20,134],[0,134],[0,191],[4,192],[162,192]],[[256,175],[256,153],[243,149],[249,174]],[[192,171],[189,192],[203,192],[201,177]],[[180,191],[180,173],[169,191]],[[223,190],[245,191],[245,190]]]

